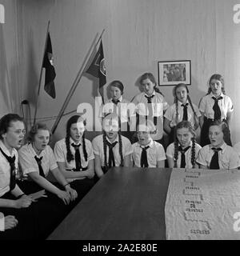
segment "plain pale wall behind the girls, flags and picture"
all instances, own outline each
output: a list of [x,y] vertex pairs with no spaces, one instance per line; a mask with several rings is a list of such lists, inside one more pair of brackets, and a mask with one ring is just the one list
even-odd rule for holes
[[[50,128],[55,120],[51,117],[58,115],[91,44],[105,29],[102,42],[107,84],[121,80],[124,96],[130,100],[139,93],[137,81],[141,74],[150,71],[158,80],[159,61],[190,60],[190,97],[197,105],[207,92],[210,75],[224,76],[226,94],[234,102],[232,141],[240,141],[240,24],[233,21],[235,1],[11,0],[2,3],[6,7],[6,24],[0,25],[0,32],[4,36],[1,42],[6,50],[12,110],[20,112],[22,100],[27,99],[33,117],[46,26],[50,20],[57,97],[52,99],[43,90],[43,72],[37,114],[38,120],[46,121]],[[1,61],[1,68],[3,64]],[[161,86],[160,90],[172,104],[173,86]],[[76,110],[82,102],[94,106],[97,95],[98,80],[83,76],[65,112]],[[61,119],[54,140],[64,137],[68,118],[70,115]]]

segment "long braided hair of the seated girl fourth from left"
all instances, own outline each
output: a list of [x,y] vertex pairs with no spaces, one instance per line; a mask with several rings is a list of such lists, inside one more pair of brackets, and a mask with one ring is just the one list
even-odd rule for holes
[[[119,154],[120,154],[120,158],[121,158],[121,164],[120,166],[123,166],[123,154],[122,154],[122,135],[121,135],[121,131],[119,130],[120,127],[120,119],[118,117],[118,114],[114,114],[114,113],[109,113],[106,114],[105,118],[103,118],[102,123],[106,120],[106,119],[115,119],[118,120],[118,143],[119,143]],[[106,131],[103,130],[103,134],[102,134],[102,140],[103,140],[103,153],[104,153],[104,166],[106,166],[106,168],[108,167],[108,163],[107,163],[107,159],[106,159],[106,148],[107,148],[107,144],[106,144]]]

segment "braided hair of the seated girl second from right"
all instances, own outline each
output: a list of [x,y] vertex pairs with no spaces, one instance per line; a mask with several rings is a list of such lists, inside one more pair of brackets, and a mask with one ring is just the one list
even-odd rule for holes
[[193,126],[191,126],[191,123],[188,121],[182,121],[182,122],[178,122],[176,129],[174,131],[174,168],[177,168],[177,162],[178,162],[178,146],[179,146],[179,142],[178,142],[178,137],[177,137],[177,130],[181,129],[181,128],[186,128],[190,131],[190,133],[193,135],[193,138],[191,138],[192,140],[192,147],[191,147],[191,164],[193,166],[193,168],[195,167],[195,162],[196,162],[196,150],[195,150],[195,131]]

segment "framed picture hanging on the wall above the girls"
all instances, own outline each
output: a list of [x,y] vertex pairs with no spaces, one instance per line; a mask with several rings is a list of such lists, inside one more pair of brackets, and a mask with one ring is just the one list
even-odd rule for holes
[[158,85],[175,86],[178,83],[191,84],[191,62],[158,62]]

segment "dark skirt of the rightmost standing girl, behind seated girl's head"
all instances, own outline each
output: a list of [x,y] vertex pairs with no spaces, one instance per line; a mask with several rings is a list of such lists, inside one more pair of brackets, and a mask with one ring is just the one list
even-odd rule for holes
[[[200,140],[200,145],[201,146],[206,146],[210,144],[210,139],[209,139],[209,127],[210,124],[213,122],[212,119],[208,119],[208,118],[204,118],[204,122],[202,125],[202,129],[201,129],[201,140]],[[229,126],[228,123],[226,121],[226,119],[223,119],[222,122],[226,122],[227,125],[227,130],[226,132],[223,134],[224,135],[224,141],[226,142],[226,144],[228,146],[232,146],[232,142],[231,142],[231,138],[230,138],[230,130],[229,130]]]

